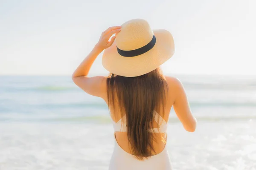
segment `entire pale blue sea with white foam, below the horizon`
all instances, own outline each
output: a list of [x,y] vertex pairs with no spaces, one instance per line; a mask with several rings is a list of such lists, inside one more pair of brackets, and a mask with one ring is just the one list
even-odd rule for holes
[[[175,75],[194,133],[173,109],[174,170],[256,170],[256,76]],[[104,100],[68,76],[0,76],[0,170],[108,170],[113,127]]]

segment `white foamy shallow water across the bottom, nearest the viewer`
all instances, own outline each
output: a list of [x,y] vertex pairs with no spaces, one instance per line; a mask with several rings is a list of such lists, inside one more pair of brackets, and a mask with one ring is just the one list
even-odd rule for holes
[[[167,148],[175,170],[253,170],[256,124],[198,122],[194,133],[180,123],[168,128]],[[0,170],[108,170],[111,124],[0,124]],[[232,135],[230,135],[232,134]]]

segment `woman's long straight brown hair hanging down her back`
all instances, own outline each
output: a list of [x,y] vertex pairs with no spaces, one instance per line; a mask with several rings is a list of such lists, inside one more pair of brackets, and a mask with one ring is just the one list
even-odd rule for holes
[[[126,114],[127,136],[132,154],[139,160],[151,156],[154,111],[165,113],[168,85],[160,68],[138,77],[110,74],[107,79],[108,105],[112,115]],[[164,116],[164,115],[163,115]]]

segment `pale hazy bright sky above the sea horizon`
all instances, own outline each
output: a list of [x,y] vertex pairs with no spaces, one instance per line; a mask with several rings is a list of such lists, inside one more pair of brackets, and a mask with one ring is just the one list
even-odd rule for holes
[[[0,0],[0,75],[71,75],[110,26],[166,29],[166,74],[256,75],[255,0]],[[100,54],[89,75],[108,74]]]

